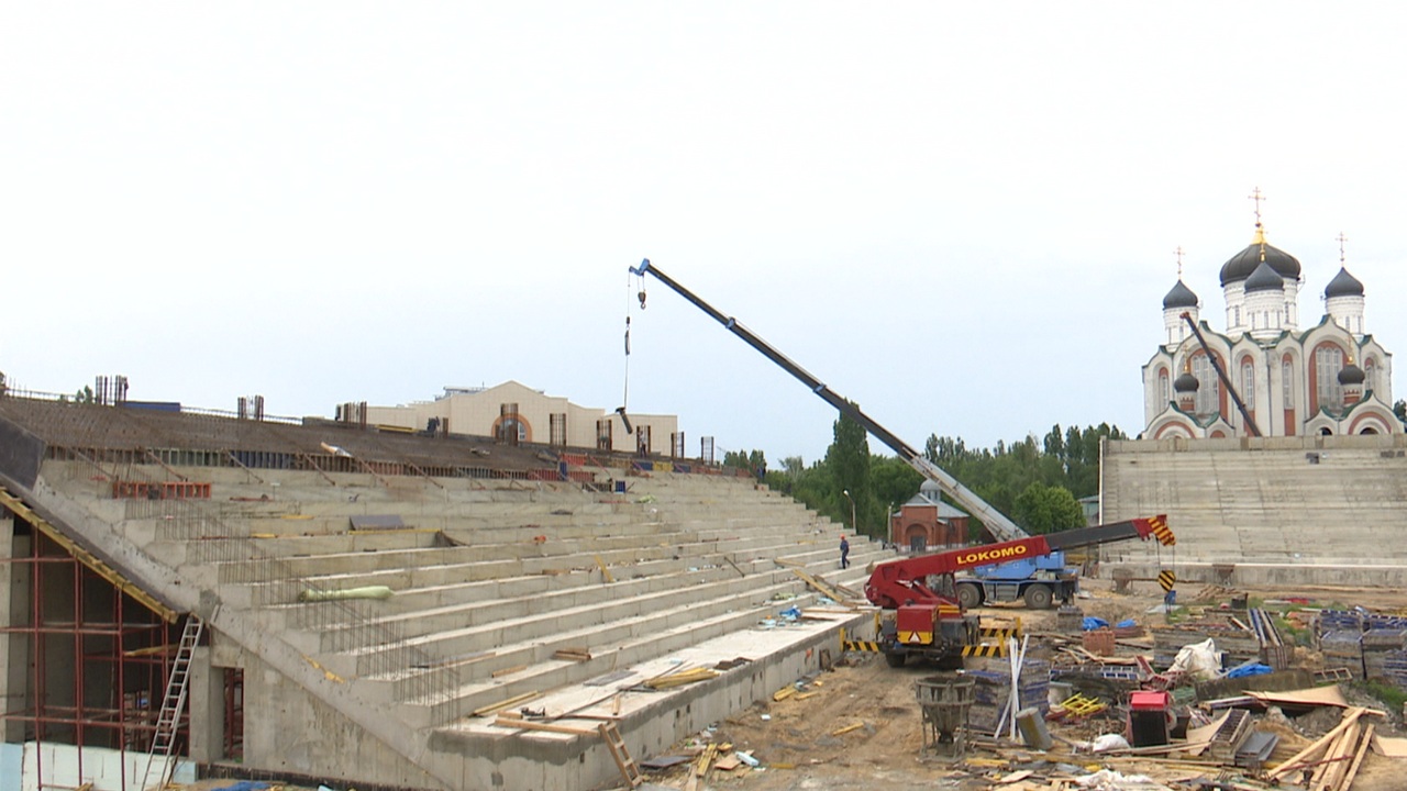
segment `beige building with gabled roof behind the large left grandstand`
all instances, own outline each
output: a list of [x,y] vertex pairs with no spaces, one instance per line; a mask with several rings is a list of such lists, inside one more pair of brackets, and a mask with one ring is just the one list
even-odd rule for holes
[[[339,418],[357,405],[345,404]],[[680,434],[677,415],[637,415],[626,412],[626,431],[619,412],[573,404],[561,396],[547,396],[518,381],[494,387],[446,387],[433,401],[415,401],[400,407],[364,407],[366,422],[411,431],[432,429],[445,434],[512,438],[567,448],[597,448],[663,456],[685,456],[689,448]],[[695,449],[696,450],[696,449]]]

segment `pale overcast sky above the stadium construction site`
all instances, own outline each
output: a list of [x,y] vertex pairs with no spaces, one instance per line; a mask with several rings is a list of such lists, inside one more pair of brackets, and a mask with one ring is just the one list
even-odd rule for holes
[[[0,6],[0,370],[331,415],[613,410],[650,258],[922,448],[1142,428],[1186,251],[1348,266],[1407,348],[1397,4]],[[629,407],[809,463],[833,411],[647,280]],[[886,450],[871,441],[875,450]]]

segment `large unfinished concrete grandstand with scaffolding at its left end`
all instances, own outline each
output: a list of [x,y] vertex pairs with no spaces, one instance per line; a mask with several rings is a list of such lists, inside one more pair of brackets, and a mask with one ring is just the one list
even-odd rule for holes
[[796,570],[860,588],[888,555],[854,542],[839,570],[841,528],[753,479],[310,424],[0,397],[3,746],[25,787],[62,784],[61,754],[142,787],[187,618],[207,639],[183,760],[397,788],[619,784],[602,723],[656,754],[870,636],[872,612]]

